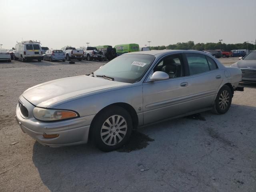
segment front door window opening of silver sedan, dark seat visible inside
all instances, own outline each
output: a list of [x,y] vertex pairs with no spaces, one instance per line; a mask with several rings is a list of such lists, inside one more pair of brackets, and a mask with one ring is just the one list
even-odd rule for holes
[[183,62],[181,54],[174,54],[160,60],[154,68],[154,72],[162,71],[169,75],[169,78],[181,77],[183,72]]

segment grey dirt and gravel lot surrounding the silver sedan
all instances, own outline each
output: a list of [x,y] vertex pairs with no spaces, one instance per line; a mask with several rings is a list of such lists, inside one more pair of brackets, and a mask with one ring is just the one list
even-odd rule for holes
[[[229,66],[238,58],[220,60]],[[105,63],[0,62],[1,192],[256,191],[256,85],[244,84],[224,115],[204,112],[147,126],[109,153],[91,144],[44,147],[20,130],[15,108],[24,90]]]

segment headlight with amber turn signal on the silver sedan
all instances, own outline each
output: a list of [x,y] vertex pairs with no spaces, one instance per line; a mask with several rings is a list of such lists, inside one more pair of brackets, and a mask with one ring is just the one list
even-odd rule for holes
[[34,117],[41,121],[66,120],[78,117],[78,113],[69,110],[45,109],[35,107],[33,110]]

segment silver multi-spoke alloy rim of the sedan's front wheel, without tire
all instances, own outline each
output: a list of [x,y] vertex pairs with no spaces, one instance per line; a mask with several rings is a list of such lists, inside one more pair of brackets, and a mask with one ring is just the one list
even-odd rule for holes
[[104,144],[114,146],[121,142],[127,133],[127,122],[123,116],[112,115],[105,120],[100,130]]

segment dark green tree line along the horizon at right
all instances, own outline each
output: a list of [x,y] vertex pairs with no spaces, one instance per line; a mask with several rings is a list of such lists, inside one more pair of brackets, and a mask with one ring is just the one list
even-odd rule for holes
[[236,44],[226,44],[226,43],[197,43],[194,44],[194,41],[188,41],[188,42],[178,42],[176,44],[170,44],[168,46],[150,46],[151,50],[164,50],[164,49],[174,49],[174,50],[224,50],[224,51],[231,51],[231,50],[237,50],[237,49],[248,49],[248,50],[254,50],[255,45],[251,43],[236,43]]

